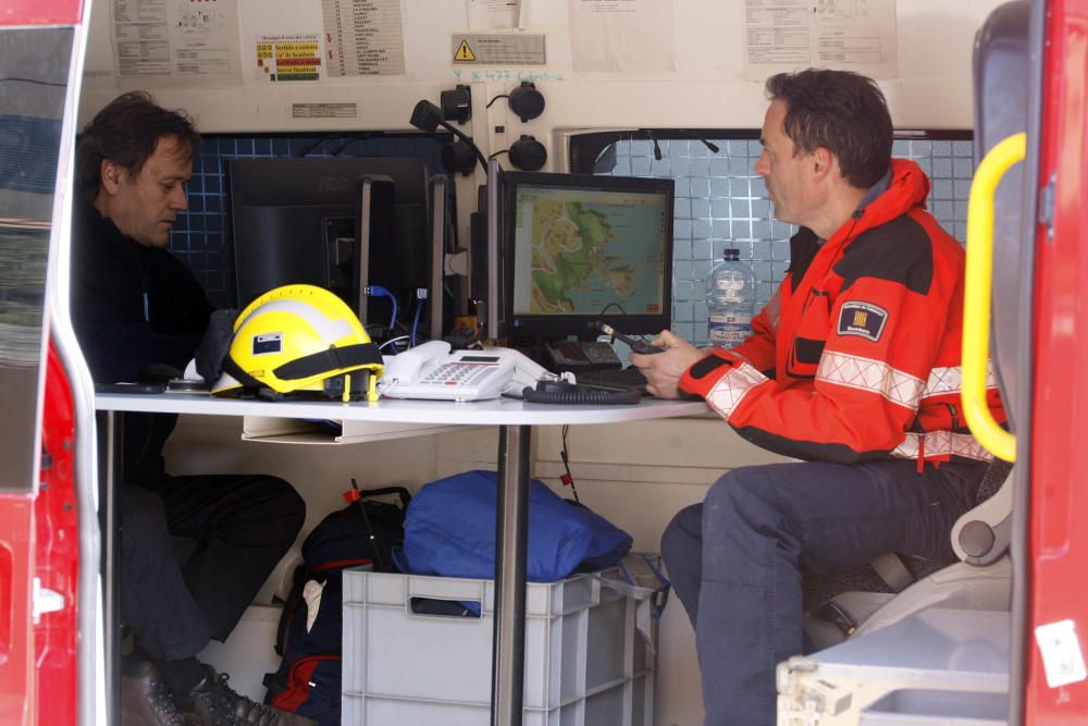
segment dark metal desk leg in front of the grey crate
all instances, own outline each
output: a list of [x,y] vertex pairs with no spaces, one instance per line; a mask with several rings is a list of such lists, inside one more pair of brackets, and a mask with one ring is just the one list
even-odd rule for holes
[[492,726],[521,724],[526,679],[526,543],[531,430],[528,426],[502,426],[498,429]]

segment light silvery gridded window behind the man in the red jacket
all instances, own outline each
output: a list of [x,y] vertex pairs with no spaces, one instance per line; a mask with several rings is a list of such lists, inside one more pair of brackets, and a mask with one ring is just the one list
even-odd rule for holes
[[[577,134],[570,155],[574,173],[676,180],[672,329],[704,343],[704,281],[722,250],[739,248],[741,259],[752,266],[756,305],[762,307],[786,274],[796,227],[772,219],[763,177],[752,170],[763,150],[758,131],[700,135],[718,152],[692,132],[655,128]],[[974,174],[970,138],[969,132],[898,132],[892,148],[892,156],[914,159],[930,177],[929,210],[961,243]]]

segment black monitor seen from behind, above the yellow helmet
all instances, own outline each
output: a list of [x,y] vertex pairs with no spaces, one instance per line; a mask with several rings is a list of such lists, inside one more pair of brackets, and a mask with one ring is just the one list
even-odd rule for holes
[[280,285],[308,283],[334,292],[370,328],[390,322],[392,304],[367,298],[367,285],[407,306],[431,284],[421,159],[232,159],[227,184],[239,307]]

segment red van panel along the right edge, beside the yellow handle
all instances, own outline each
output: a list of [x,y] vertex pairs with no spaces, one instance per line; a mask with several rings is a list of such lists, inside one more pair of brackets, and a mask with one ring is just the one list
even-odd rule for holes
[[1052,237],[1036,242],[1030,643],[1025,723],[1085,723],[1088,681],[1051,688],[1035,628],[1071,619],[1088,653],[1088,0],[1048,3],[1040,183],[1055,183]]

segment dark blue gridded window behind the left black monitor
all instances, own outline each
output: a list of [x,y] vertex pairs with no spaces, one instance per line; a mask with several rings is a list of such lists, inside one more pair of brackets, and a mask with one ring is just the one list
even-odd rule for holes
[[[272,157],[418,157],[431,174],[445,173],[442,138],[415,134],[343,136],[207,135],[193,163],[189,211],[178,217],[170,250],[184,260],[218,307],[235,304],[234,247],[227,223],[226,160]],[[450,192],[454,185],[447,184]],[[453,205],[447,208],[455,209]]]

